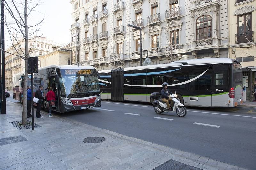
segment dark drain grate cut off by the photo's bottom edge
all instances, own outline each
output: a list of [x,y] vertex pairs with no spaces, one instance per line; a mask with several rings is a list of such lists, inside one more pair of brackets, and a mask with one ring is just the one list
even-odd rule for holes
[[162,165],[157,166],[156,168],[152,170],[202,170],[187,164],[183,164],[181,162],[175,161],[175,160],[168,160],[167,162],[163,163]]

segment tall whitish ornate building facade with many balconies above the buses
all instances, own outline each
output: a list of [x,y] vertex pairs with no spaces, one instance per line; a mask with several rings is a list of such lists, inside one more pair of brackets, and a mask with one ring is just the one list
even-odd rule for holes
[[[228,57],[228,0],[71,0],[71,63],[98,70]],[[142,47],[139,31],[142,28]]]

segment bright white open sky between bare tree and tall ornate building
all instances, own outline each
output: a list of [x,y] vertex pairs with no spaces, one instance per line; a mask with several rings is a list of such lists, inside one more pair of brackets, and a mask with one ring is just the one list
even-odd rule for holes
[[[44,19],[43,23],[37,26],[39,29],[37,35],[63,45],[70,42],[71,4],[69,0],[40,0],[35,10],[30,14],[28,24],[32,25]],[[7,31],[6,33],[8,34]],[[5,35],[5,39],[10,39],[9,34]],[[6,40],[6,44],[11,43],[8,41]]]

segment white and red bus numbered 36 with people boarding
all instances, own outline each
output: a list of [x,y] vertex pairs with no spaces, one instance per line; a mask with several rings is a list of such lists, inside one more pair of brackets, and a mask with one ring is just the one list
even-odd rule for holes
[[[56,66],[51,65],[39,69],[33,76],[34,94],[40,85],[44,86],[43,94],[52,86],[56,94],[56,106],[52,110],[64,113],[74,110],[100,107],[99,74],[92,66]],[[13,76],[13,98],[22,102],[24,74]],[[31,75],[28,75],[31,85]],[[48,111],[48,102],[43,101],[42,107]],[[57,109],[58,108],[58,109]]]

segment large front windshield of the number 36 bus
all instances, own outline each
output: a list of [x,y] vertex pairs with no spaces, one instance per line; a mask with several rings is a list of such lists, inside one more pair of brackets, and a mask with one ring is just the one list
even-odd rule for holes
[[79,97],[79,94],[100,92],[97,72],[94,69],[60,69],[60,96]]

